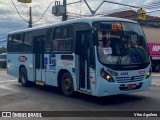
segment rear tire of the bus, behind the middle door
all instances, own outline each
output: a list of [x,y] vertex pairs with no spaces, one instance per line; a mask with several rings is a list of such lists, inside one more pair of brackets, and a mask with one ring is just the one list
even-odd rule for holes
[[27,78],[27,71],[24,67],[21,68],[21,70],[20,70],[19,80],[20,80],[20,83],[22,84],[22,86],[24,86],[24,87],[29,86],[29,81]]

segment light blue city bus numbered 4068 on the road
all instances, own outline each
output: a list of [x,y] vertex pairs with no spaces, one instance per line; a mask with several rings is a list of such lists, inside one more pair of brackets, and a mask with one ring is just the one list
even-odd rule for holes
[[7,72],[23,86],[109,96],[148,90],[151,62],[137,22],[91,17],[11,32]]

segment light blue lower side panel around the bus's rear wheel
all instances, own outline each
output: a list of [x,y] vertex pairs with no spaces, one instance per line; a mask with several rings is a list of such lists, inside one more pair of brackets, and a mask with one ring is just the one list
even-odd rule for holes
[[27,70],[28,80],[33,80],[32,54],[7,54],[7,73],[19,78],[19,68],[24,66]]

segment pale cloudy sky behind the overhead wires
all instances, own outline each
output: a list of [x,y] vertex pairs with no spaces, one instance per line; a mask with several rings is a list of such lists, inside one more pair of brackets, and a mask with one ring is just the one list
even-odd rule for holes
[[[77,2],[80,0],[67,0],[67,3]],[[91,15],[88,7],[82,2],[67,5],[67,12],[69,14],[69,18],[75,18],[80,14],[83,15]],[[86,0],[90,5],[92,10],[96,10],[96,8],[100,5],[103,0]],[[157,10],[158,7],[160,8],[160,1],[159,0],[108,0],[112,2],[123,3],[127,5],[135,5],[143,7],[145,5],[152,4],[154,6],[149,7],[146,11],[153,11]],[[159,1],[159,3],[157,3]],[[26,21],[29,20],[29,8],[32,7],[32,16],[33,16],[33,27],[42,26],[47,24],[52,24],[55,22],[61,21],[61,17],[56,17],[52,14],[52,7],[54,6],[55,0],[32,0],[32,3],[20,3],[17,0],[13,0],[16,5],[16,8],[20,15]],[[61,4],[63,0],[60,0]],[[154,3],[156,2],[156,3]],[[51,4],[52,3],[52,4]],[[50,5],[51,4],[51,5]],[[39,18],[42,16],[46,8],[50,5],[47,12],[43,16],[42,19]],[[157,7],[156,7],[157,6]],[[122,10],[137,10],[131,7],[124,7],[116,4],[111,3],[104,3],[101,8],[97,11],[98,14],[108,14],[111,12],[118,12]],[[152,13],[154,16],[160,16],[159,13]],[[20,30],[28,27],[28,23],[24,21],[22,18],[19,17],[17,11],[12,3],[11,0],[0,0],[0,41],[5,40],[7,38],[7,34],[11,31]],[[38,22],[36,22],[39,20]],[[1,43],[0,47],[6,46],[6,42]]]

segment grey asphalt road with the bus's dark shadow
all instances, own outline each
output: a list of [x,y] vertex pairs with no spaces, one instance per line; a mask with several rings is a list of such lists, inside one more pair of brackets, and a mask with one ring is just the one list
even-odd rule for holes
[[[160,75],[153,75],[154,84],[149,91],[103,98],[77,93],[74,98],[69,98],[63,96],[53,87],[22,87],[16,78],[7,75],[6,71],[0,70],[0,111],[160,111],[160,81],[158,81],[160,80]],[[17,120],[17,118],[10,119]],[[53,120],[53,118],[45,119]],[[57,117],[54,119],[81,120],[82,118]],[[97,120],[99,118],[87,117],[85,119]],[[117,118],[101,117],[100,119]],[[118,119],[124,120],[124,118]],[[145,118],[132,117],[125,119],[143,120]],[[159,118],[154,118],[154,120],[156,119],[158,120]]]

